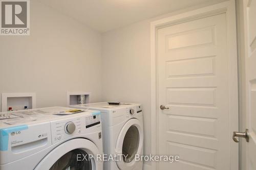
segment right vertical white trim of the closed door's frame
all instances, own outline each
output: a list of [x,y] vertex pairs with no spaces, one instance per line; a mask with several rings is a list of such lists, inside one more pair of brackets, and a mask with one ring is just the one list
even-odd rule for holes
[[[229,57],[229,132],[239,130],[238,108],[238,56],[237,56],[237,26],[236,26],[236,2],[229,2],[227,7],[227,49]],[[236,72],[236,74],[234,74]],[[234,83],[236,82],[236,83]],[[229,134],[232,138],[232,133]],[[231,140],[230,140],[231,141]],[[230,143],[230,169],[239,169],[239,144]],[[237,161],[234,161],[237,160]]]

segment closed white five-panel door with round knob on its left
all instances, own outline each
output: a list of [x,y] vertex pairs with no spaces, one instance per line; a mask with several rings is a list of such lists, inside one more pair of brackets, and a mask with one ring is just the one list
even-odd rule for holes
[[238,82],[229,82],[226,18],[158,29],[158,104],[166,107],[159,108],[158,152],[180,156],[176,163],[160,162],[161,170],[228,170],[238,163],[231,160],[230,114],[237,113],[229,112],[229,83]]

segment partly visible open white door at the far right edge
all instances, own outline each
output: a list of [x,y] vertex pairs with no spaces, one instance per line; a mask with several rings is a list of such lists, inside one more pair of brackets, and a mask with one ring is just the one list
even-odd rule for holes
[[[247,170],[256,169],[256,0],[244,1],[246,117],[249,131]],[[242,140],[242,139],[241,139]],[[242,148],[245,149],[245,148]]]

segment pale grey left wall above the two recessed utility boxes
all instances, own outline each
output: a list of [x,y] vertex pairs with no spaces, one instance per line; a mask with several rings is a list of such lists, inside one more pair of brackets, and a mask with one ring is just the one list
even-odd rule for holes
[[37,107],[66,106],[66,91],[100,101],[101,34],[36,1],[30,10],[30,36],[0,36],[0,93],[36,92]]

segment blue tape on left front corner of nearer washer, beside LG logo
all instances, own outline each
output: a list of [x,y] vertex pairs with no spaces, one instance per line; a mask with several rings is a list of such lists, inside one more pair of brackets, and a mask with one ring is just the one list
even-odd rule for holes
[[0,129],[0,151],[8,151],[9,133],[28,129],[28,125]]

